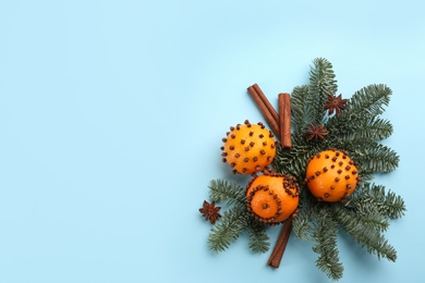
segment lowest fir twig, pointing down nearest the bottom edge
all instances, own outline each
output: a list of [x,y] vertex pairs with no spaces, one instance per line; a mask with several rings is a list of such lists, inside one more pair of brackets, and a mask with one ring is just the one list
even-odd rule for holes
[[337,234],[337,222],[327,209],[321,209],[313,233],[313,238],[316,242],[313,250],[319,255],[316,266],[333,280],[341,279],[343,272],[343,266],[339,260]]

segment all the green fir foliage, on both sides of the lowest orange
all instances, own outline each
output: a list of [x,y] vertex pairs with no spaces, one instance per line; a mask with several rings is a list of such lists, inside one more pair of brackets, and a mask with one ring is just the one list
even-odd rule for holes
[[[316,266],[333,280],[343,274],[337,245],[339,227],[369,254],[396,261],[397,251],[384,233],[390,220],[401,218],[406,210],[401,196],[369,183],[376,173],[396,170],[400,161],[394,150],[380,144],[393,132],[391,123],[380,116],[390,101],[391,89],[384,84],[363,87],[349,99],[348,109],[329,115],[324,104],[328,95],[336,96],[337,91],[332,64],[324,58],[315,59],[308,84],[294,87],[291,95],[292,148],[278,147],[272,163],[274,170],[299,181],[301,195],[299,212],[292,221],[293,232],[299,238],[314,242]],[[326,140],[307,140],[305,131],[311,123],[325,125],[329,131]],[[328,148],[348,151],[357,163],[363,182],[347,202],[317,201],[304,183],[308,158]],[[211,181],[209,189],[211,200],[229,207],[211,229],[210,248],[224,250],[246,231],[253,251],[268,250],[266,227],[247,212],[244,189],[222,180]]]

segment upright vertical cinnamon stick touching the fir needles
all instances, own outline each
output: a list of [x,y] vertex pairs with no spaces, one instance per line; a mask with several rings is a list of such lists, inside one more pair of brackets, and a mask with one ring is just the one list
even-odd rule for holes
[[291,96],[279,94],[279,125],[280,144],[283,148],[291,148]]

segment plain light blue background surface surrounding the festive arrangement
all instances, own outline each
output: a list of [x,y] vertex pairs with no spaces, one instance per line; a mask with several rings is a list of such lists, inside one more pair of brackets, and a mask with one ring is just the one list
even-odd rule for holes
[[[341,233],[340,282],[424,282],[425,17],[405,1],[1,1],[0,282],[330,282],[308,242],[281,267],[245,236],[216,255],[197,211],[230,125],[327,58],[339,93],[393,96],[396,263]],[[279,227],[269,230],[275,243]]]

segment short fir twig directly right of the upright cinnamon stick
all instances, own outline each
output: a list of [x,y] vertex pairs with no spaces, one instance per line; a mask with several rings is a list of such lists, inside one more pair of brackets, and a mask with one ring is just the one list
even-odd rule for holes
[[308,86],[294,87],[291,95],[292,127],[295,133],[303,132],[312,121],[305,101],[308,96]]

